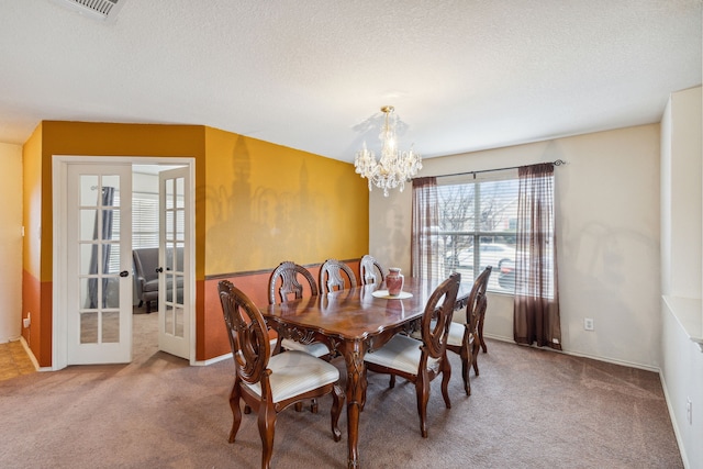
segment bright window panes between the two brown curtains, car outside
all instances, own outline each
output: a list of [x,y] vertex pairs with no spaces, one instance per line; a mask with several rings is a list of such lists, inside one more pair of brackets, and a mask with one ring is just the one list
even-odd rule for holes
[[[433,271],[446,278],[453,271],[475,279],[487,267],[493,272],[488,289],[515,289],[515,230],[517,172],[495,171],[437,180],[438,225]],[[479,177],[480,176],[480,177]]]

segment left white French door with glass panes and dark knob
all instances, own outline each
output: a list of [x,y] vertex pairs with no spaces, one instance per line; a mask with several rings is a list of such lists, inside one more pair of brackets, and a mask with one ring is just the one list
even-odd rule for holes
[[67,365],[132,360],[132,166],[67,165]]

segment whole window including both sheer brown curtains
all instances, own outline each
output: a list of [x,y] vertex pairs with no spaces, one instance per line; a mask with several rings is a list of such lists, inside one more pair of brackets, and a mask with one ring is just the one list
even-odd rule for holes
[[413,179],[412,275],[458,271],[467,282],[490,265],[487,288],[515,295],[515,342],[561,349],[554,190],[561,164],[513,168],[517,177],[506,168]]

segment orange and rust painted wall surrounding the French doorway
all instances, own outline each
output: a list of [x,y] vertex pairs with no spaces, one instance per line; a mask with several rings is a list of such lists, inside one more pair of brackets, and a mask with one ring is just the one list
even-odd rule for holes
[[44,121],[23,147],[23,310],[40,311],[31,347],[42,366],[52,364],[54,155],[194,158],[198,360],[222,355],[224,336],[205,275],[368,252],[368,190],[349,164],[199,125]]

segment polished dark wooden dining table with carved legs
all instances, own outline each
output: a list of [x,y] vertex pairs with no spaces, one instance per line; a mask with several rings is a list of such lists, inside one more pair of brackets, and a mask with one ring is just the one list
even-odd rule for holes
[[[346,364],[349,468],[359,468],[359,415],[366,397],[364,356],[399,332],[410,332],[439,280],[405,278],[400,298],[382,298],[386,286],[368,284],[261,308],[268,325],[286,338],[321,342]],[[466,305],[471,284],[461,283],[455,309]],[[376,292],[376,294],[375,294]],[[404,298],[409,297],[409,298]]]

